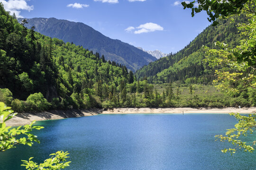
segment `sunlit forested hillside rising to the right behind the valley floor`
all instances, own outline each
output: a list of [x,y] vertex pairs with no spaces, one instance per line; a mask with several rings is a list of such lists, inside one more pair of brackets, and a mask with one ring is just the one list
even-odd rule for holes
[[231,47],[238,45],[240,36],[236,23],[244,22],[245,17],[236,17],[235,22],[220,20],[218,26],[208,26],[184,49],[175,54],[169,54],[147,66],[137,70],[136,76],[139,79],[147,77],[150,83],[169,83],[181,81],[181,83],[202,83],[212,82],[212,69],[202,62],[205,58],[203,45],[215,48],[214,42],[229,43]]

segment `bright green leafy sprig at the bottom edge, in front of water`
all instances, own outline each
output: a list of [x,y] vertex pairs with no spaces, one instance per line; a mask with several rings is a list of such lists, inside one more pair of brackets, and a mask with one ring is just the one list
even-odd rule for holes
[[52,156],[49,159],[46,159],[44,163],[40,163],[39,165],[31,161],[33,157],[29,158],[28,161],[23,161],[23,164],[21,166],[25,166],[26,170],[61,170],[69,166],[69,163],[71,161],[66,161],[66,158],[69,158],[67,156],[68,152],[58,151],[56,153],[50,154]]

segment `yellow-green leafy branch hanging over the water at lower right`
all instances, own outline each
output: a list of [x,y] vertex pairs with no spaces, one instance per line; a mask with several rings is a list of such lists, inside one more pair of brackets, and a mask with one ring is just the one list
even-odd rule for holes
[[243,148],[245,152],[253,152],[253,146],[256,145],[256,141],[252,142],[243,142],[242,140],[238,140],[240,136],[247,136],[248,133],[252,134],[256,129],[256,113],[250,114],[249,116],[242,116],[238,113],[231,113],[230,115],[234,116],[238,123],[235,125],[235,128],[227,129],[226,135],[216,135],[215,137],[219,138],[221,142],[228,141],[232,143],[235,147],[229,149],[223,149],[221,152],[223,153],[236,153],[237,148]]

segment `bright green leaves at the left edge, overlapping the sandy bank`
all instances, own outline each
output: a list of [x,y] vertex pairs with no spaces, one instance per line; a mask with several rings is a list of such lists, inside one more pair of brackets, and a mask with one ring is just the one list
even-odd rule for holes
[[[19,126],[16,128],[6,127],[5,122],[17,113],[13,113],[10,107],[7,107],[3,102],[0,102],[0,152],[7,149],[16,147],[17,144],[26,144],[31,146],[33,142],[39,143],[37,136],[30,134],[33,129],[40,130],[41,126],[32,126],[35,121],[30,125]],[[18,139],[18,136],[21,136]],[[25,136],[25,137],[22,137]]]

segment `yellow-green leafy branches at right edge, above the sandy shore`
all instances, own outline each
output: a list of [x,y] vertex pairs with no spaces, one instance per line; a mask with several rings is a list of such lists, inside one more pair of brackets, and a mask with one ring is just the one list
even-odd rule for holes
[[256,89],[256,16],[247,14],[248,24],[239,24],[243,39],[240,45],[230,48],[228,44],[216,42],[219,49],[205,47],[205,62],[217,68],[214,82],[228,93],[238,94],[247,87]]

